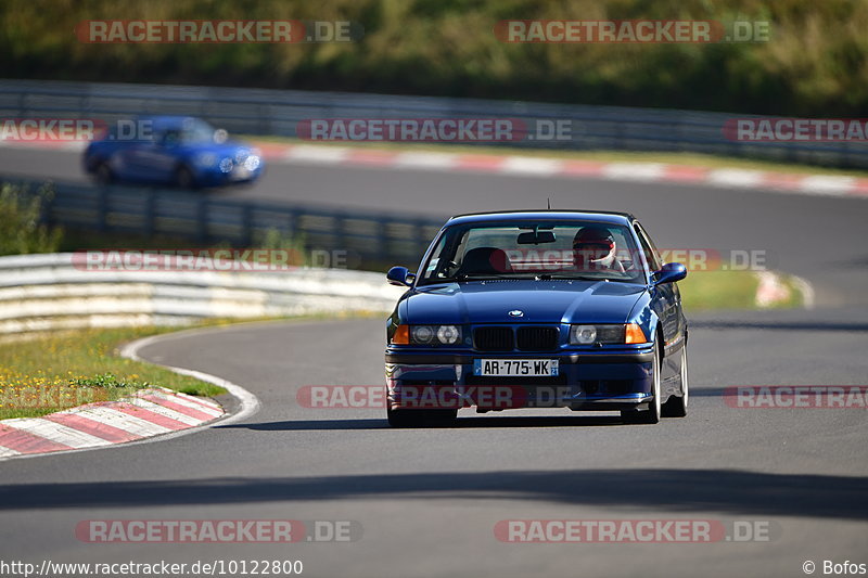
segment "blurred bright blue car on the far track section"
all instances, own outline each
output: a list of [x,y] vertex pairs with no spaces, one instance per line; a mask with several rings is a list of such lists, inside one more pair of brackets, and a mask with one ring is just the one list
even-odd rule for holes
[[256,147],[229,141],[225,130],[184,116],[118,121],[88,145],[84,164],[100,183],[182,189],[251,183],[265,169]]

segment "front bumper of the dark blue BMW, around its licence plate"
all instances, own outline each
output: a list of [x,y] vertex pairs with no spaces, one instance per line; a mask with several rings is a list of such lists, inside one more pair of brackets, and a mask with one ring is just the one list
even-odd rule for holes
[[[395,409],[471,407],[644,409],[653,399],[653,347],[557,354],[386,350],[386,402]],[[557,359],[557,377],[485,377],[474,359]],[[425,403],[421,396],[427,396]],[[431,403],[434,403],[432,406]]]

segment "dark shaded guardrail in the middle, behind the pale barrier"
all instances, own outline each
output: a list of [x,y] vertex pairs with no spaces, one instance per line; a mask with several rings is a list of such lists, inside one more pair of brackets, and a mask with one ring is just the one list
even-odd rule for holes
[[[3,177],[35,193],[43,180]],[[188,239],[200,244],[251,246],[269,231],[304,243],[307,249],[341,251],[349,267],[360,264],[414,266],[444,219],[383,211],[339,210],[226,200],[173,189],[97,187],[54,181],[42,220],[73,229]],[[197,245],[202,246],[202,245]]]

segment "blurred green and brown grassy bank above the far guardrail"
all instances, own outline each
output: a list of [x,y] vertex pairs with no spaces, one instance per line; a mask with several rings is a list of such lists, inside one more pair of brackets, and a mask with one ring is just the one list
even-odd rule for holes
[[[352,21],[358,42],[87,43],[88,20]],[[502,20],[769,22],[754,43],[508,43]],[[0,77],[277,87],[859,117],[857,0],[5,0]]]

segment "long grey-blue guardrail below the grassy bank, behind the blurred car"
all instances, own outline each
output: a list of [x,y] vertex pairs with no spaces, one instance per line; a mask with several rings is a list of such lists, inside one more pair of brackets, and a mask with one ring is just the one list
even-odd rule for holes
[[[733,115],[695,111],[536,102],[398,97],[294,90],[0,80],[0,117],[101,118],[140,114],[203,117],[233,132],[296,137],[311,118],[564,119],[569,140],[521,140],[522,146],[706,153],[839,167],[868,167],[868,145],[748,143],[727,140]],[[515,143],[500,143],[509,146]]]

